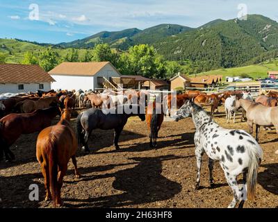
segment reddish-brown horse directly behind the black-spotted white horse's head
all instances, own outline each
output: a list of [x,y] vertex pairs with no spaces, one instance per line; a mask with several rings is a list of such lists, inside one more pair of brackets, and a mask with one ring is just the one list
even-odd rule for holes
[[174,104],[176,104],[177,108],[181,108],[181,106],[188,101],[188,99],[190,99],[190,97],[188,96],[188,94],[180,94],[180,95],[174,95],[172,96],[172,94],[169,95],[165,95],[164,96],[164,101],[165,101],[165,117],[168,114],[168,116],[170,117],[170,110],[172,108],[172,106],[174,106]]

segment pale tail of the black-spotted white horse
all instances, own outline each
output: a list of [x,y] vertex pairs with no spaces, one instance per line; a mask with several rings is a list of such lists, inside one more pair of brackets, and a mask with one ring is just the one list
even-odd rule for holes
[[258,176],[259,164],[263,157],[263,151],[259,144],[252,146],[247,149],[250,156],[250,161],[248,164],[248,173],[247,173],[247,198],[249,200],[254,200],[256,193],[256,179]]

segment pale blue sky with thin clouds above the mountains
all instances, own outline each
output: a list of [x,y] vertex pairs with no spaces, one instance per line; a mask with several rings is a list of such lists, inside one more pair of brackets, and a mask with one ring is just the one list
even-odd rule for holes
[[[248,14],[278,21],[277,0],[0,0],[0,38],[58,43],[163,23],[194,28],[213,19],[236,18],[240,3]],[[37,14],[31,4],[38,6],[33,20],[29,14]]]

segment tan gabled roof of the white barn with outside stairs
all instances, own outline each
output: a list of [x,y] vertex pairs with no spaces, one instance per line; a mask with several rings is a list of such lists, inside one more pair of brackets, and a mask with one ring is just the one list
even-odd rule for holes
[[[50,70],[49,74],[94,76],[108,64],[111,65],[115,71],[117,71],[111,62],[62,62],[54,69]],[[118,71],[117,73],[120,75]]]

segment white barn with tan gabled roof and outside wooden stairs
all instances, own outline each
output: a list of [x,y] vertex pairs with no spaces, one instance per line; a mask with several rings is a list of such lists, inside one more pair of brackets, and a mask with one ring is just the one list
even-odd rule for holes
[[[51,85],[52,89],[95,91],[104,87],[116,89],[120,83],[120,72],[111,62],[63,62],[49,74],[56,80]],[[112,78],[117,83],[112,83]]]

